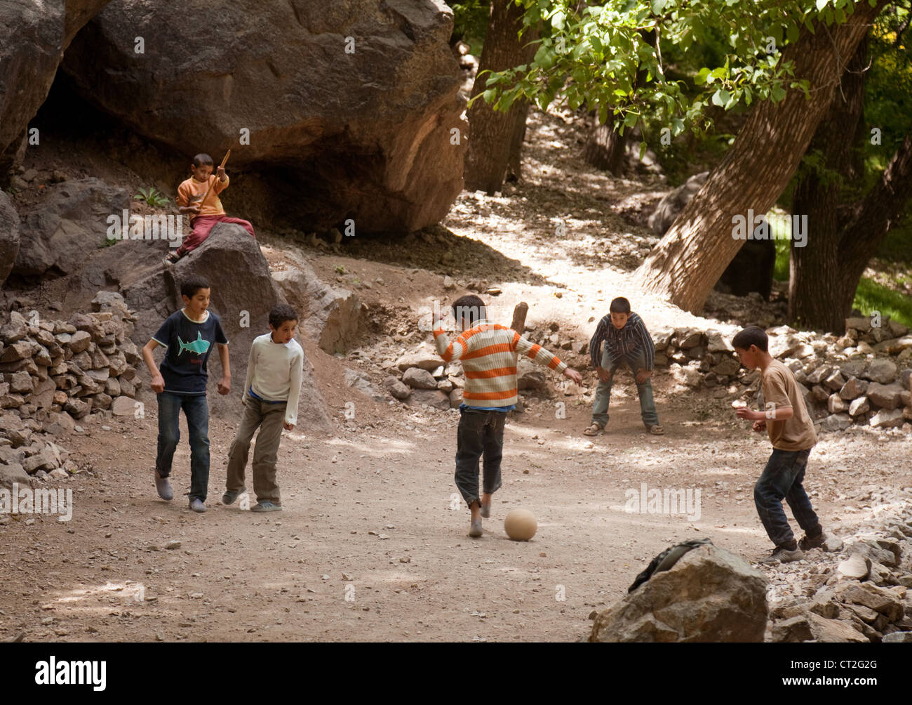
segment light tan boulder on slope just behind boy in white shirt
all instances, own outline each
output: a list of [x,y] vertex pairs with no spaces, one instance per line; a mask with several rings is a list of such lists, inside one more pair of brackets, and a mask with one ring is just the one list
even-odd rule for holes
[[358,294],[326,284],[304,259],[285,254],[285,268],[273,272],[285,299],[302,317],[301,324],[316,338],[320,350],[329,354],[347,352],[358,337]]

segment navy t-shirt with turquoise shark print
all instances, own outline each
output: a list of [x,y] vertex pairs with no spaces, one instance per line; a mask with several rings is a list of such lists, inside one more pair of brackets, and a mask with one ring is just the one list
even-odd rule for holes
[[212,343],[228,344],[222,321],[208,310],[201,323],[191,321],[183,310],[171,313],[152,340],[167,348],[159,369],[165,391],[175,395],[204,395]]

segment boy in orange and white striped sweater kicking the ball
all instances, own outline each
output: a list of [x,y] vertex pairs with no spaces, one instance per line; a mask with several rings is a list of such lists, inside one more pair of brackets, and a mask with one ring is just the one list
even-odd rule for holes
[[[534,345],[520,333],[488,321],[484,302],[477,296],[463,296],[452,304],[456,329],[462,331],[450,341],[440,321],[434,328],[434,343],[445,363],[461,360],[465,389],[456,434],[456,487],[472,511],[469,535],[482,535],[482,517],[491,516],[491,497],[501,487],[503,424],[516,405],[516,360],[520,353],[534,363],[563,373],[576,384],[581,374],[567,367],[541,345]],[[484,482],[478,496],[478,460],[484,458]]]

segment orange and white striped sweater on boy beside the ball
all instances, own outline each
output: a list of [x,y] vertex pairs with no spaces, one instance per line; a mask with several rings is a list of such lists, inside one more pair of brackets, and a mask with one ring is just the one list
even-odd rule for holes
[[434,331],[434,344],[443,362],[462,361],[465,389],[462,401],[467,406],[497,408],[516,404],[516,360],[520,354],[557,373],[567,368],[554,354],[534,345],[511,328],[476,321],[450,341],[440,326]]

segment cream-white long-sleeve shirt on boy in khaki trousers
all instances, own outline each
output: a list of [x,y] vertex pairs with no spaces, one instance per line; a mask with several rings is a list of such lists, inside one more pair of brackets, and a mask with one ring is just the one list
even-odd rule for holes
[[244,394],[253,389],[264,402],[286,402],[285,423],[297,424],[297,401],[304,374],[304,350],[292,338],[287,343],[273,342],[272,333],[254,338],[247,362]]

